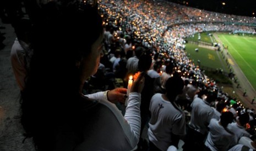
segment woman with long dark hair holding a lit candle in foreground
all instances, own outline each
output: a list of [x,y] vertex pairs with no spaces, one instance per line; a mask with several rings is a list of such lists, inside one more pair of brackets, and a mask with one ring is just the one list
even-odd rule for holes
[[[85,96],[97,72],[104,37],[95,5],[80,1],[41,4],[34,28],[21,124],[37,150],[132,150],[139,141],[144,73],[130,89],[126,114],[115,106],[126,89]],[[113,103],[111,103],[113,102]]]

